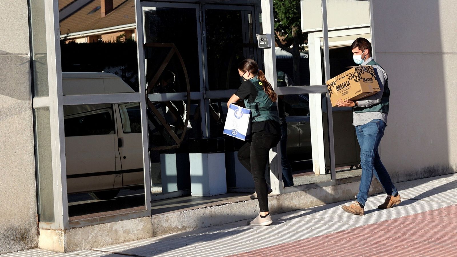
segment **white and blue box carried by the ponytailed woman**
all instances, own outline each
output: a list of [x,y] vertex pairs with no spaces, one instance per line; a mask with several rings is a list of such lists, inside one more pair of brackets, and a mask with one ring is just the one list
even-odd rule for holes
[[230,104],[224,125],[224,134],[246,140],[251,136],[251,110]]

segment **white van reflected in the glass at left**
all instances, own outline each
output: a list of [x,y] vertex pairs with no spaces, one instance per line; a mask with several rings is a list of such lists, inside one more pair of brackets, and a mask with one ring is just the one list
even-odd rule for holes
[[[110,73],[63,72],[64,95],[134,92]],[[114,198],[143,186],[139,103],[64,106],[68,193]]]

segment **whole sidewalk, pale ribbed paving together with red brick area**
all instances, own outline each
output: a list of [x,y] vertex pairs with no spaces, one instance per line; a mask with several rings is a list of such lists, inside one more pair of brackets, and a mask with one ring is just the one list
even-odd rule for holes
[[401,204],[380,210],[386,195],[372,196],[364,216],[345,213],[348,202],[339,202],[273,215],[266,227],[244,220],[91,251],[0,257],[457,256],[457,174],[396,186]]

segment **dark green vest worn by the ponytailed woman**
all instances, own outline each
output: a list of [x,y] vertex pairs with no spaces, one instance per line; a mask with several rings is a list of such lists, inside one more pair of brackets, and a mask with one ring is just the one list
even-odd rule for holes
[[247,109],[251,110],[252,122],[260,122],[266,120],[274,120],[279,122],[279,115],[275,103],[271,101],[270,97],[263,90],[262,82],[257,79],[257,76],[250,79],[257,91],[257,97],[254,102],[248,102],[244,99],[244,105]]

